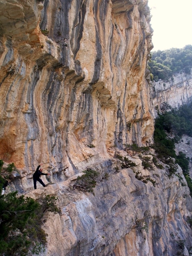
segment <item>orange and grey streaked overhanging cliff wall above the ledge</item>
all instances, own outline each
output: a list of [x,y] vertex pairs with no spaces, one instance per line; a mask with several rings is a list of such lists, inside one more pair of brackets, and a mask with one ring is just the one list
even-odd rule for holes
[[70,176],[113,145],[152,138],[146,0],[6,0],[0,10],[1,157]]

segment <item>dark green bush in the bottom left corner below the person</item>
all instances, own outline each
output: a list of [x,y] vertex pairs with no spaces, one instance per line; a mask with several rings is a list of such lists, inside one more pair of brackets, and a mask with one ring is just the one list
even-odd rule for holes
[[0,197],[0,255],[28,255],[37,241],[46,243],[41,217],[37,217],[40,205],[32,198],[16,195],[12,192]]

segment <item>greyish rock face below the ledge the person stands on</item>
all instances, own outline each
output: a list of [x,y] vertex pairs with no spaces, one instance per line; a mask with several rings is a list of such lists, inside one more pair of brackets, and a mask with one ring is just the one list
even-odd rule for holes
[[[33,198],[56,194],[61,208],[60,214],[49,213],[43,219],[49,236],[42,255],[189,255],[192,200],[182,170],[178,167],[177,175],[168,177],[165,166],[157,169],[151,163],[153,169],[148,171],[138,156],[126,157],[136,164],[133,170],[114,172],[118,161],[94,166],[101,175],[108,173],[107,179],[98,180],[94,194],[72,189],[76,177],[27,194]],[[143,183],[137,172],[148,182]]]

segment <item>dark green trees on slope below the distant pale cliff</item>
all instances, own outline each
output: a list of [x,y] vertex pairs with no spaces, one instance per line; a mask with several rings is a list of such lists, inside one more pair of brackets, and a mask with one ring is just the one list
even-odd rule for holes
[[169,110],[158,113],[154,131],[154,148],[157,157],[168,165],[169,175],[176,173],[175,163],[179,164],[192,196],[192,180],[189,177],[190,159],[181,151],[178,155],[175,152],[175,143],[179,143],[183,134],[192,137],[192,103],[183,105],[179,109],[169,107]]

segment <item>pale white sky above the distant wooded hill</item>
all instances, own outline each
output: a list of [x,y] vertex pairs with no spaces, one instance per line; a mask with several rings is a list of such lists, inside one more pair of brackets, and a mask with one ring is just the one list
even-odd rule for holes
[[148,0],[152,51],[183,48],[192,44],[192,0]]

